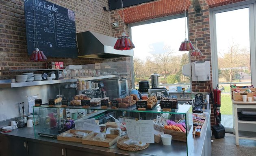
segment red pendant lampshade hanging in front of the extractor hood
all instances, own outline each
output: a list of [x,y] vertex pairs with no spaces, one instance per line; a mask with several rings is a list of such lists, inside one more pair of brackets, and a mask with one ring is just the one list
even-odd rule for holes
[[121,37],[118,37],[117,42],[115,43],[115,50],[130,50],[135,48],[132,40],[129,36],[126,36],[126,33],[123,32]]

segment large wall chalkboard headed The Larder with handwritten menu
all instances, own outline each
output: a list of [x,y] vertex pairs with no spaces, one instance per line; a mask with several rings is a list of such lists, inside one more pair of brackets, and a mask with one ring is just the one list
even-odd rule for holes
[[28,55],[77,57],[75,13],[46,0],[24,0]]

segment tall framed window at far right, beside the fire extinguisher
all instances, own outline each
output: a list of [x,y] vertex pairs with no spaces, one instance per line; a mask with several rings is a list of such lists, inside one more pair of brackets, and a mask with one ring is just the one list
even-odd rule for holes
[[256,85],[255,11],[253,1],[210,10],[213,85],[221,89],[221,124],[231,130],[230,85]]

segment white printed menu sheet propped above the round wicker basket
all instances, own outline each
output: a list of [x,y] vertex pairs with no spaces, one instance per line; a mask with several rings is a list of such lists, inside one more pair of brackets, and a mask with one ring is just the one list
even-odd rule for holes
[[129,139],[142,143],[154,143],[154,125],[152,120],[125,119]]

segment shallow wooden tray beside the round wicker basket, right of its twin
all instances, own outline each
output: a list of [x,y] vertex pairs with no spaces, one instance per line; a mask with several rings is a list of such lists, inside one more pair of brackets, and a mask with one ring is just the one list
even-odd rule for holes
[[120,138],[118,134],[106,134],[106,139],[104,141],[93,140],[97,134],[98,133],[94,133],[94,135],[84,137],[82,139],[82,144],[95,145],[101,147],[111,147]]

